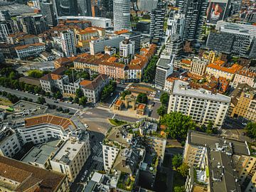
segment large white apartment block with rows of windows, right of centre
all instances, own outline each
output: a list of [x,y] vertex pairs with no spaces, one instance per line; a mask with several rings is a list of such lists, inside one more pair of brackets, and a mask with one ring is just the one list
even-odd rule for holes
[[182,112],[191,116],[198,124],[208,124],[212,121],[214,127],[220,128],[228,113],[229,105],[228,96],[215,94],[203,88],[196,90],[191,88],[188,82],[175,80],[168,112]]

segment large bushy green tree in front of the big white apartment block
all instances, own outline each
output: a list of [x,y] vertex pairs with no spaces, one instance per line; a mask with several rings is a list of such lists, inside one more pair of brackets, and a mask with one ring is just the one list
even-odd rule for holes
[[186,140],[188,129],[196,128],[196,124],[191,117],[181,112],[165,114],[160,122],[167,127],[166,132],[168,132],[172,138],[180,139],[181,141]]

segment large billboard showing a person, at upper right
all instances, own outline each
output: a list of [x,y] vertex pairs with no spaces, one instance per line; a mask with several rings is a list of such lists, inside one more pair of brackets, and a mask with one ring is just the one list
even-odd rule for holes
[[223,19],[227,4],[219,2],[210,2],[207,13],[207,23],[216,24],[217,21]]

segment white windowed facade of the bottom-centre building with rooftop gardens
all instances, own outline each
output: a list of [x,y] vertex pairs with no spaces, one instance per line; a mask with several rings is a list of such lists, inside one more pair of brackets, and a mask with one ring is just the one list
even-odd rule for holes
[[110,171],[112,165],[114,164],[114,160],[117,157],[119,149],[113,146],[102,145],[103,151],[103,162],[105,171]]

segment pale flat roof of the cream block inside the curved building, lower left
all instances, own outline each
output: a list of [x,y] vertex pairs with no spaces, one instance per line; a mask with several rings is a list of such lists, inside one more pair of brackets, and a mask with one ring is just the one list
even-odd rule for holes
[[75,159],[85,142],[78,141],[66,141],[63,146],[60,147],[59,151],[53,156],[52,161],[63,162],[64,164],[70,164],[70,161]]

